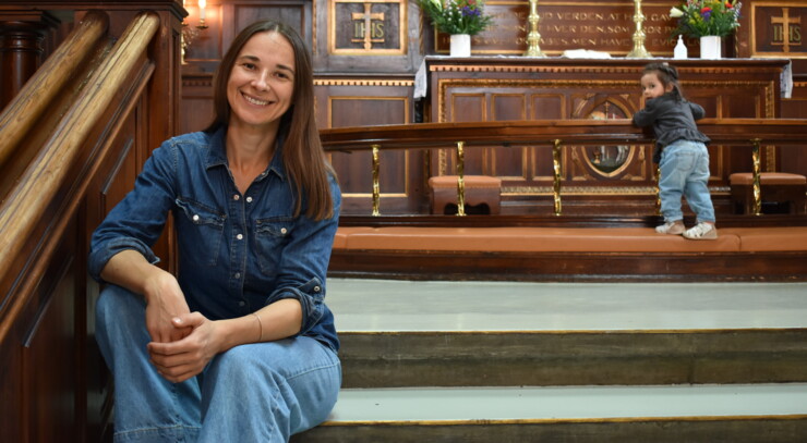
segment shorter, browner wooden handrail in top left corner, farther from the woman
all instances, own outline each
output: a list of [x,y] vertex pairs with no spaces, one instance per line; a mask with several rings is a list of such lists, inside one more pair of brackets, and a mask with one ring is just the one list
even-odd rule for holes
[[106,34],[108,24],[105,13],[88,12],[0,113],[0,167],[61,94],[62,86],[81,63],[92,54],[95,42]]

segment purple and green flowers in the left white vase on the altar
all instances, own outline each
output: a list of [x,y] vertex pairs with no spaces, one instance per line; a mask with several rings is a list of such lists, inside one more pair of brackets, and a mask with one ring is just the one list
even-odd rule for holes
[[485,15],[482,0],[418,0],[437,30],[445,34],[475,35],[491,25],[493,17]]

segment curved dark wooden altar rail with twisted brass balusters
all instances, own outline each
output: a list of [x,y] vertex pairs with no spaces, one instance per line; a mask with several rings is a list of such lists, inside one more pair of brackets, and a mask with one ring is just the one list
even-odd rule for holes
[[[807,120],[802,119],[704,119],[698,127],[712,139],[712,145],[752,146],[752,176],[756,214],[760,214],[762,145],[804,147]],[[378,164],[382,150],[457,147],[458,214],[463,214],[462,157],[468,147],[480,146],[552,146],[553,197],[555,214],[561,216],[561,156],[565,146],[652,145],[653,137],[636,127],[630,120],[549,120],[499,121],[472,123],[421,123],[407,125],[357,126],[322,130],[327,151],[373,150],[373,214],[378,214]],[[747,171],[736,171],[747,172]]]

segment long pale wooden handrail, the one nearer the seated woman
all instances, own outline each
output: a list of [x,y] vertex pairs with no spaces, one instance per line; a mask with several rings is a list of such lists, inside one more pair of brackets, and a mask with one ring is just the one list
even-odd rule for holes
[[0,279],[5,276],[36,221],[43,217],[48,202],[67,180],[82,144],[145,53],[158,27],[159,16],[149,12],[137,15],[130,23],[45,143],[36,161],[28,167],[0,207],[0,250],[3,251],[0,255]]

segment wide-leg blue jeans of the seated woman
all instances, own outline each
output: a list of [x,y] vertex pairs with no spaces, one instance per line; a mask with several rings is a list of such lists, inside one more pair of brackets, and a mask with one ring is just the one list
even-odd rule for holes
[[115,376],[116,442],[287,442],[324,421],[341,384],[339,359],[306,336],[236,346],[182,383],[148,360],[145,304],[108,286],[96,340]]

